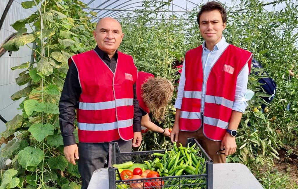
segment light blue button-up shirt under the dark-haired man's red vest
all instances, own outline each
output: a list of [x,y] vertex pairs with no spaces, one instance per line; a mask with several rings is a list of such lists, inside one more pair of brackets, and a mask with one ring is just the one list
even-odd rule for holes
[[[203,62],[203,69],[204,69],[204,82],[203,82],[202,98],[201,98],[202,113],[204,113],[204,106],[205,106],[204,100],[206,96],[207,78],[209,76],[209,73],[213,65],[216,63],[218,58],[221,56],[221,54],[229,45],[229,43],[226,42],[224,36],[222,36],[221,40],[214,46],[212,51],[209,51],[209,49],[206,48],[205,44],[206,42],[204,41],[202,44],[202,47],[203,47],[202,62]],[[248,65],[246,64],[237,76],[235,100],[234,100],[232,110],[243,113],[247,107],[247,103],[245,101],[245,95],[246,95],[246,89],[247,89],[248,75],[249,75],[249,68],[248,68]],[[184,85],[185,85],[185,63],[183,64],[183,67],[182,67],[177,99],[174,106],[175,108],[178,108],[178,109],[181,109],[182,97],[184,93]],[[217,86],[217,87],[220,87],[220,86]]]

